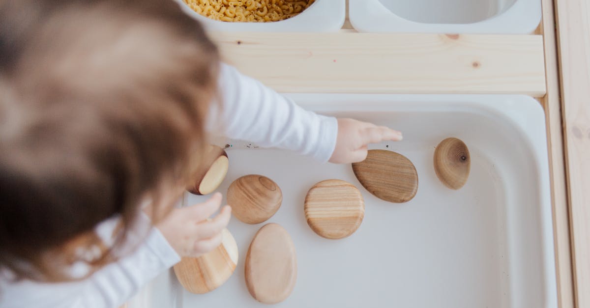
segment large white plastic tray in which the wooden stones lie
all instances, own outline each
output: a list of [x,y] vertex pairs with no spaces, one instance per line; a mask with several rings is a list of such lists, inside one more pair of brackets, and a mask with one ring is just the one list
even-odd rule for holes
[[[414,199],[392,204],[362,188],[350,165],[235,143],[227,150],[230,171],[219,191],[225,194],[232,181],[249,173],[268,176],[283,191],[283,205],[267,222],[290,233],[299,272],[291,296],[275,307],[558,307],[545,117],[537,101],[493,95],[290,96],[320,113],[404,132],[402,142],[371,148],[407,156],[419,186]],[[433,168],[435,146],[451,136],[471,153],[470,177],[458,191],[441,184]],[[365,199],[360,228],[343,240],[319,237],[304,217],[308,189],[324,179],[348,181]],[[186,202],[206,198],[190,195]],[[250,296],[244,281],[248,245],[265,223],[232,218],[240,261],[219,289],[188,293],[166,271],[130,307],[268,307]]]

